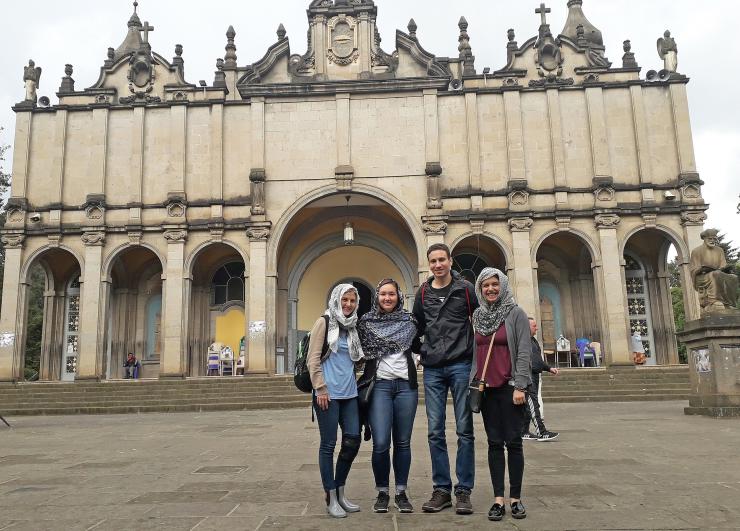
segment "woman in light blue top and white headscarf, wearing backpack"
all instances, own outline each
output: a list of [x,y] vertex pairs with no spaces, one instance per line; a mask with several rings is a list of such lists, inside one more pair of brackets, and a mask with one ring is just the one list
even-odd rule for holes
[[[352,462],[360,449],[360,420],[357,406],[355,363],[363,358],[357,334],[360,296],[351,284],[339,284],[331,293],[329,307],[311,330],[307,364],[314,388],[319,423],[319,471],[326,492],[326,510],[335,518],[360,508],[349,501],[344,486]],[[337,428],[342,444],[334,465]]]

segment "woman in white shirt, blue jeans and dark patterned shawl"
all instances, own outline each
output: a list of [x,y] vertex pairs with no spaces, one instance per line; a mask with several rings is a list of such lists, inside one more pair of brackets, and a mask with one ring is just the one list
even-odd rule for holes
[[[387,513],[390,502],[390,447],[393,440],[395,505],[414,511],[406,493],[411,469],[411,431],[419,401],[412,344],[418,335],[416,318],[403,309],[403,293],[390,278],[375,290],[373,308],[358,326],[367,360],[362,379],[374,381],[369,420],[373,434],[372,466],[378,497],[376,513]],[[416,349],[418,351],[418,349]]]

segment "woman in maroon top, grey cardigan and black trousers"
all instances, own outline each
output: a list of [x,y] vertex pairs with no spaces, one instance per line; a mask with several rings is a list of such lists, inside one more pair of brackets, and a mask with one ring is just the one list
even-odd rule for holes
[[480,410],[488,437],[488,467],[495,498],[488,519],[498,521],[506,514],[504,448],[508,454],[511,515],[521,519],[527,516],[521,497],[524,403],[526,390],[532,384],[529,322],[514,300],[509,279],[498,269],[487,267],[481,272],[475,282],[475,293],[480,307],[473,314],[476,360],[470,382],[476,379],[485,382]]

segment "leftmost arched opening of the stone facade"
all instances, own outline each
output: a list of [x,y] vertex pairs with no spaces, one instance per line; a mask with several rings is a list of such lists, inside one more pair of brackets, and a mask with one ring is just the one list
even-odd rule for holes
[[[23,354],[26,364],[28,299],[32,270],[43,270],[43,320],[38,379],[73,381],[77,372],[80,330],[80,261],[63,248],[45,249],[33,256],[23,275],[24,307]],[[37,288],[41,288],[38,286]]]

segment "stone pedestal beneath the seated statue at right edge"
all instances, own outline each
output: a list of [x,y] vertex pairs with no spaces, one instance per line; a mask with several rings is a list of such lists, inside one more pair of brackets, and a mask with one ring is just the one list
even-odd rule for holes
[[684,413],[740,418],[740,312],[689,321],[678,337],[686,345],[691,369]]

